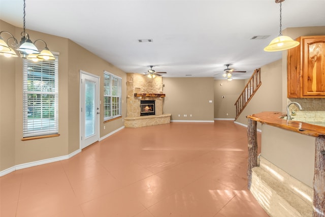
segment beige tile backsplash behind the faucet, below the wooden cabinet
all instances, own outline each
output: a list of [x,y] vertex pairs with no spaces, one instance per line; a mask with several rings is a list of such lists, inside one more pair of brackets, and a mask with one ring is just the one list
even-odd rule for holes
[[[299,98],[289,99],[291,102],[297,102],[303,110],[297,108],[297,113],[293,120],[302,122],[325,122],[325,98]],[[294,108],[291,105],[290,108]],[[291,110],[290,110],[291,111]]]

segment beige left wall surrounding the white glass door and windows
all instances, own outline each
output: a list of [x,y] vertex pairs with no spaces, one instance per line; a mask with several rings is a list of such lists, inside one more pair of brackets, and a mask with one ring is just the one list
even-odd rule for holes
[[[0,20],[1,29],[20,36],[21,28]],[[69,39],[27,30],[32,41],[43,39],[51,51],[59,52],[59,137],[21,141],[22,138],[22,59],[0,55],[0,171],[55,157],[79,149],[79,70],[100,76],[103,102],[104,70],[122,78],[126,73],[85,50]],[[41,45],[39,45],[41,47]],[[126,86],[122,85],[122,116],[126,116]],[[104,105],[101,104],[101,111]],[[101,137],[123,127],[122,118],[104,123]],[[104,130],[104,125],[106,130]]]

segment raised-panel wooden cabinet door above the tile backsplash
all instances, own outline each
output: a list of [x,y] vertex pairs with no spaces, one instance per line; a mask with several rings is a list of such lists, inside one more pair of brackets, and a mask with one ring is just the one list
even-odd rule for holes
[[325,96],[325,38],[303,39],[303,96]]

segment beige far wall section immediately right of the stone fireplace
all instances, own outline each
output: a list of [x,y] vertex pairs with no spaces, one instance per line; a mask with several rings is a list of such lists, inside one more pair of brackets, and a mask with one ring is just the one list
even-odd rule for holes
[[[213,78],[163,78],[164,114],[172,114],[171,120],[213,121]],[[212,103],[209,103],[209,101]],[[180,117],[178,116],[180,114]],[[184,117],[184,114],[187,117]],[[190,114],[192,115],[190,117]]]

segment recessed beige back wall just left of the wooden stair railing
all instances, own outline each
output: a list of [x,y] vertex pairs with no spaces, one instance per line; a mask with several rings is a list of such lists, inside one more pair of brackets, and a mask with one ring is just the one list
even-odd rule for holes
[[245,80],[214,80],[214,118],[235,119],[235,103],[245,85]]

